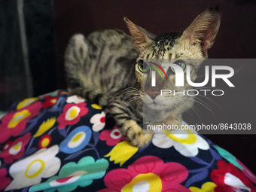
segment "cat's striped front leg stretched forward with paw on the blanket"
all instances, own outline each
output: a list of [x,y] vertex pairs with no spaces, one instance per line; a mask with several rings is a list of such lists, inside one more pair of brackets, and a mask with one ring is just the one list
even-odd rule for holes
[[126,107],[126,102],[111,102],[105,108],[105,112],[114,117],[120,132],[133,146],[142,148],[151,141],[153,134],[143,132],[142,127],[139,126],[142,119],[136,120],[133,117],[134,112]]

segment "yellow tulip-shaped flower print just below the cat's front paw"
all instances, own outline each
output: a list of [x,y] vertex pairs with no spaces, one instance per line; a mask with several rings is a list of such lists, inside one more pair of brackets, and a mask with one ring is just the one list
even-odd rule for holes
[[114,148],[106,154],[105,157],[110,157],[110,160],[114,160],[114,164],[120,163],[120,166],[129,160],[139,148],[133,147],[129,142],[123,141],[114,146]]

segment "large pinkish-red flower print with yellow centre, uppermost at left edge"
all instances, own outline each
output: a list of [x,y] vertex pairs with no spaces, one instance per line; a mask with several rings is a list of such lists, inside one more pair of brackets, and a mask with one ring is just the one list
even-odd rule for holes
[[6,142],[11,136],[19,136],[23,133],[28,120],[39,114],[41,105],[41,102],[35,102],[26,108],[6,114],[0,125],[0,143]]

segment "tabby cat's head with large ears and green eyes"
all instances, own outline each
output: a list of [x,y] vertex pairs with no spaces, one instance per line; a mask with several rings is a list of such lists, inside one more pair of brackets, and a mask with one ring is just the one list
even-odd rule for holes
[[[124,18],[132,35],[135,47],[139,50],[139,57],[136,61],[136,78],[141,86],[141,96],[143,102],[151,108],[177,109],[181,112],[190,108],[194,102],[191,96],[181,94],[164,94],[160,96],[160,90],[189,90],[190,86],[184,81],[184,87],[175,87],[175,73],[170,67],[163,68],[161,71],[154,63],[162,62],[176,63],[185,69],[190,66],[191,80],[197,78],[197,69],[201,62],[195,59],[207,58],[210,47],[215,41],[220,23],[221,13],[218,7],[209,8],[184,30],[182,33],[166,33],[164,35],[154,35],[133,22]],[[202,60],[201,60],[202,61]],[[168,80],[162,80],[160,75],[156,75],[156,86],[151,86],[152,71],[158,71]],[[186,70],[185,70],[186,71]],[[184,71],[184,77],[186,72]]]

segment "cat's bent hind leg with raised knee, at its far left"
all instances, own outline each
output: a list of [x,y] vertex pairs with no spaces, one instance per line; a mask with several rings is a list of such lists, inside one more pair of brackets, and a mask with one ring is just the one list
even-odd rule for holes
[[90,73],[90,45],[84,35],[73,35],[65,53],[65,68],[68,81],[68,91],[90,102],[105,106],[107,96],[92,83]]

